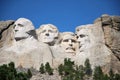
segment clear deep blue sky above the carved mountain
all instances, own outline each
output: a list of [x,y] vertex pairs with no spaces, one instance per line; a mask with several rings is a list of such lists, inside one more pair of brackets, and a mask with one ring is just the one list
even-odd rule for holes
[[60,32],[92,24],[102,14],[120,16],[120,0],[0,0],[0,20],[30,19],[35,28],[54,24]]

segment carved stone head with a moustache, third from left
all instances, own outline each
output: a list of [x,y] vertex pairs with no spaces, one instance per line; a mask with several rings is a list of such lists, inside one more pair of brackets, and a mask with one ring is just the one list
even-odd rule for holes
[[66,53],[75,53],[77,42],[75,35],[65,34],[61,40],[60,46],[65,50]]

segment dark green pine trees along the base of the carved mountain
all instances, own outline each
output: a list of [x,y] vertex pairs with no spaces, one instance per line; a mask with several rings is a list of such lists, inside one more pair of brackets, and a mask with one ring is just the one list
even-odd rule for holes
[[[114,74],[112,69],[109,74],[104,74],[100,66],[92,70],[89,59],[86,59],[84,66],[78,66],[74,61],[65,58],[64,63],[58,66],[57,71],[61,80],[120,80],[120,74]],[[54,69],[48,62],[45,65],[41,64],[39,72],[40,74],[54,75]],[[14,62],[0,66],[0,80],[30,80],[31,77],[30,69],[27,72],[17,72]]]

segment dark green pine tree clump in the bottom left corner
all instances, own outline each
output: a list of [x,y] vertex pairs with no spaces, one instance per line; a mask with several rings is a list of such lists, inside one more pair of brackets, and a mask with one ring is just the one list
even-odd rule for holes
[[[29,75],[30,72],[28,71]],[[0,66],[0,80],[29,80],[27,73],[17,73],[13,62]]]

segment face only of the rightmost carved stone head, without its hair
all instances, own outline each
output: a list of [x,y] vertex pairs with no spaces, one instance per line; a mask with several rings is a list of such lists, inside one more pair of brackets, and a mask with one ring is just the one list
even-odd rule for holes
[[80,52],[85,51],[90,47],[90,38],[85,29],[81,29],[79,32],[77,32],[77,41],[79,42]]

